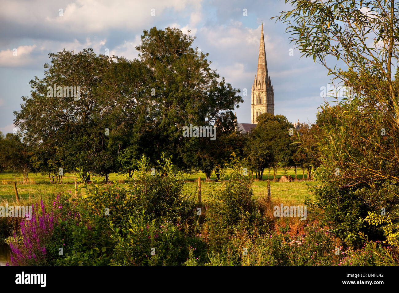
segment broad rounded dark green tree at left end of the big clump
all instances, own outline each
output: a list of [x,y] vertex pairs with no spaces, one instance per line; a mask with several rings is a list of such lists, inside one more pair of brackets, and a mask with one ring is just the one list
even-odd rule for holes
[[[31,97],[23,97],[22,109],[14,112],[15,125],[20,126],[25,142],[37,149],[38,161],[51,158],[65,163],[59,166],[63,172],[83,167],[107,176],[115,153],[106,128],[112,133],[115,122],[109,113],[117,96],[106,91],[104,82],[114,62],[91,49],[49,56],[45,77],[30,81]],[[54,85],[60,87],[56,92],[49,90]],[[75,96],[64,87],[75,87]]]

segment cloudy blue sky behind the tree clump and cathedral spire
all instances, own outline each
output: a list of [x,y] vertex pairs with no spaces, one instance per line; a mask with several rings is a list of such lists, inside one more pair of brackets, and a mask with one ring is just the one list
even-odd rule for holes
[[251,123],[261,22],[275,114],[314,123],[324,101],[320,87],[331,77],[313,59],[300,58],[285,24],[271,20],[282,10],[290,10],[284,0],[1,0],[0,131],[12,132],[13,112],[20,110],[22,96],[30,96],[29,81],[44,77],[49,53],[91,47],[97,54],[108,49],[110,55],[134,59],[143,30],[154,26],[191,31],[193,46],[209,53],[211,68],[241,95],[247,89],[235,112],[238,122]]

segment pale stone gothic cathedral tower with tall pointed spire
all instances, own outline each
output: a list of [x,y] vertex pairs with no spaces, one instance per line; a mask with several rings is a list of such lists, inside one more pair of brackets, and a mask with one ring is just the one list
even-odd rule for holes
[[257,124],[256,118],[262,113],[274,115],[274,92],[270,76],[267,74],[265,40],[263,39],[263,23],[261,43],[259,45],[258,71],[251,91],[251,123]]

